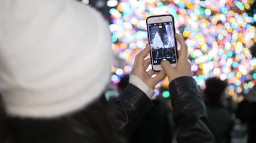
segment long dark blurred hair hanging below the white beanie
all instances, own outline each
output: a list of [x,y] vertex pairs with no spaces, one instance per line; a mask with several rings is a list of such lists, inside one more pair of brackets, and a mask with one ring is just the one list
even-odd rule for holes
[[2,117],[1,143],[99,143],[124,142],[112,107],[101,97],[77,113],[55,119]]

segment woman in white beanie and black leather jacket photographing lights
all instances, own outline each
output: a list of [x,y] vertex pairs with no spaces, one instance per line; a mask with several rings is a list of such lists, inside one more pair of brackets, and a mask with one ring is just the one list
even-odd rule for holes
[[164,61],[159,73],[146,71],[147,45],[111,107],[102,94],[110,76],[110,33],[97,11],[72,0],[5,0],[0,13],[0,92],[7,114],[0,142],[125,142],[166,74],[174,107],[180,104],[174,113],[178,141],[213,141],[197,89],[184,86],[196,85],[179,35],[183,56],[177,67]]

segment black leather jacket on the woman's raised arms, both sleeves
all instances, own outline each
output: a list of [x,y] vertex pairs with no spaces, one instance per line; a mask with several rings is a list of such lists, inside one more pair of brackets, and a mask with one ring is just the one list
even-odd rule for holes
[[[170,85],[173,121],[177,142],[214,142],[209,130],[206,106],[192,77],[179,77]],[[116,100],[118,125],[125,136],[137,126],[138,120],[152,106],[151,100],[136,86],[129,84]]]

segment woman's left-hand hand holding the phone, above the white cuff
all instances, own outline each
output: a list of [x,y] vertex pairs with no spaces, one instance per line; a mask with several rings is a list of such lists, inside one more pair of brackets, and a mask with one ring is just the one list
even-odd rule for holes
[[[149,54],[149,51],[150,46],[147,44],[146,48],[136,55],[131,74],[137,76],[147,86],[149,86],[149,88],[155,89],[156,84],[161,82],[161,80],[166,77],[166,74],[163,70],[159,72],[153,71],[152,69],[146,71],[147,67],[151,64],[150,58],[144,60],[144,58]],[[152,77],[153,74],[156,74],[156,76]]]

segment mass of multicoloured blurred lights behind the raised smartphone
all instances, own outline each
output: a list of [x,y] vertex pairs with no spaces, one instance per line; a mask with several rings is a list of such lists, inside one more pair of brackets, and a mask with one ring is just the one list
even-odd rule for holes
[[[150,15],[174,15],[176,32],[188,45],[192,74],[204,88],[208,77],[218,76],[229,83],[229,94],[246,94],[256,79],[256,59],[250,53],[256,42],[256,29],[249,10],[254,1],[199,0],[121,0],[111,8],[113,50],[124,63],[113,64],[118,76],[131,71],[135,55],[147,39],[146,18]],[[122,71],[121,71],[122,69]],[[117,82],[117,77],[112,77]],[[163,81],[165,88],[168,81]],[[158,89],[156,89],[157,91]]]

